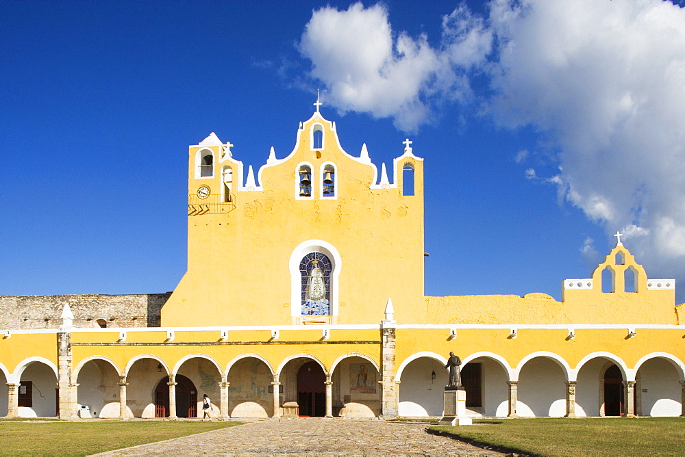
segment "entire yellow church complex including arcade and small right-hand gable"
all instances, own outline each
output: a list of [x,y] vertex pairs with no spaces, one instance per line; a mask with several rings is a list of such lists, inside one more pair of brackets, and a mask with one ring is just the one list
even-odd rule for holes
[[220,418],[440,416],[449,352],[473,416],[685,415],[675,281],[619,233],[561,301],[427,297],[423,159],[351,155],[315,105],[258,172],[214,133],[190,146],[188,270],[158,325],[73,296],[58,324],[3,324],[0,415],[201,417],[206,394]]

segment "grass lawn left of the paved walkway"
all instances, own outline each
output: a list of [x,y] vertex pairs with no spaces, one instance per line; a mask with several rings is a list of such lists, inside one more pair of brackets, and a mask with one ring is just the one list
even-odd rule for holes
[[238,424],[240,422],[2,420],[0,455],[87,456]]

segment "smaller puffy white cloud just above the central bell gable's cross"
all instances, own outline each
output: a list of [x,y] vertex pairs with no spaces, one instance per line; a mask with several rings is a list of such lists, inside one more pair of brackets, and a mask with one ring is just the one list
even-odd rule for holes
[[460,7],[443,18],[443,41],[445,49],[437,50],[426,36],[394,36],[383,5],[355,3],[345,11],[315,10],[299,50],[312,62],[310,76],[325,84],[327,103],[416,131],[429,122],[434,103],[469,98],[469,79],[456,68],[482,64],[492,40],[482,19]]

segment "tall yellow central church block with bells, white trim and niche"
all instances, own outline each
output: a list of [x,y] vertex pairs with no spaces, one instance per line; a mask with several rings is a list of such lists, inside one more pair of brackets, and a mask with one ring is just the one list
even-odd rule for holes
[[423,159],[398,140],[379,170],[314,106],[258,173],[214,133],[190,146],[188,271],[162,325],[375,323],[390,297],[398,322],[423,322]]

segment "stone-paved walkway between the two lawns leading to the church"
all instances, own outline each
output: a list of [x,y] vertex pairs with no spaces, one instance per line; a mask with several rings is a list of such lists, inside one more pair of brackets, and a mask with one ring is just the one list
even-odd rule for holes
[[99,456],[500,456],[427,434],[422,423],[351,419],[268,419],[140,445]]

